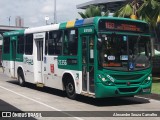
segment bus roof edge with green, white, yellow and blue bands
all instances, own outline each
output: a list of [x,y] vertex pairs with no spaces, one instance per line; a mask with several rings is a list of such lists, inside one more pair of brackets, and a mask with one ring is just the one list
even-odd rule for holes
[[88,24],[98,24],[98,21],[100,19],[126,20],[126,21],[146,23],[145,21],[141,21],[141,20],[133,20],[133,19],[121,18],[121,17],[92,17],[92,18],[63,22],[63,23],[59,23],[59,24],[51,24],[51,25],[46,25],[46,26],[41,26],[41,27],[27,28],[27,29],[24,29],[24,30],[5,32],[3,35],[4,36],[13,36],[13,35],[22,35],[22,34],[29,34],[29,33],[36,33],[36,32],[45,32],[45,31],[59,30],[59,29],[66,29],[66,28],[74,28],[74,27],[85,26],[85,25],[88,25]]

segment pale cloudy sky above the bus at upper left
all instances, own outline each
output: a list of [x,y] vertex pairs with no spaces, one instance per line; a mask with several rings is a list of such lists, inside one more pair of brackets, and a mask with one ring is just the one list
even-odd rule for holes
[[[57,22],[65,22],[81,18],[76,5],[91,0],[56,0]],[[54,0],[0,0],[0,25],[15,26],[15,18],[20,16],[24,19],[24,26],[36,27],[54,21]]]

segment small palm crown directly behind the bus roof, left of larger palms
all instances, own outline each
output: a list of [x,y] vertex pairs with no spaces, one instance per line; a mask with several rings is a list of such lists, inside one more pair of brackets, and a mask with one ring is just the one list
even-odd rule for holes
[[108,16],[109,12],[103,12],[101,7],[90,5],[85,12],[78,12],[82,18],[90,18],[95,16]]

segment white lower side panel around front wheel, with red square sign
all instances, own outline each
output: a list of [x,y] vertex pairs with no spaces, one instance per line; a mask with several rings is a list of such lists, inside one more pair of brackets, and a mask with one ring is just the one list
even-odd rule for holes
[[82,91],[82,72],[76,70],[67,70],[58,68],[57,56],[45,56],[44,57],[44,84],[45,86],[63,90],[62,78],[65,73],[69,73],[75,84],[75,90],[77,94]]

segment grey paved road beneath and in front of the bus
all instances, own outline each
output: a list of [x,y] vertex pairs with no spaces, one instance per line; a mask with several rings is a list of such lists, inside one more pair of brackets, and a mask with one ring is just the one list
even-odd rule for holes
[[[18,114],[13,114],[13,111],[36,113],[37,116],[35,117],[34,114],[29,118],[30,120],[159,120],[159,117],[133,117],[133,115],[143,116],[148,114],[146,111],[156,114],[155,111],[160,111],[160,101],[137,96],[105,99],[78,96],[76,100],[70,100],[64,92],[56,89],[41,89],[33,84],[20,87],[17,80],[7,77],[0,70],[0,111],[12,111],[12,120],[21,119],[14,118]],[[116,117],[111,117],[116,113]],[[127,114],[130,117],[119,117]]]

